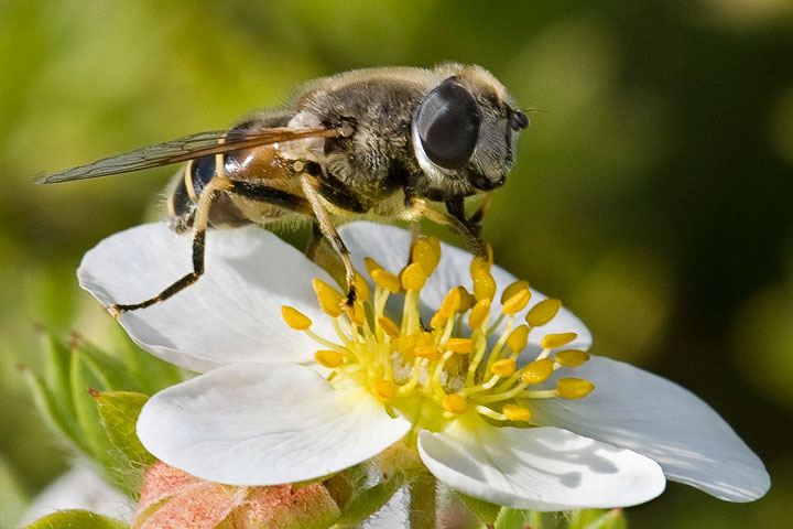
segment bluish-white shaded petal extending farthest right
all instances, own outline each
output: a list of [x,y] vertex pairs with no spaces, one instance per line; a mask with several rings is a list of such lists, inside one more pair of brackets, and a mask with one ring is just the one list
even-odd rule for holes
[[533,420],[644,454],[666,476],[719,499],[751,501],[770,487],[760,458],[691,391],[637,367],[594,356],[565,376],[595,390],[580,400],[532,404]]

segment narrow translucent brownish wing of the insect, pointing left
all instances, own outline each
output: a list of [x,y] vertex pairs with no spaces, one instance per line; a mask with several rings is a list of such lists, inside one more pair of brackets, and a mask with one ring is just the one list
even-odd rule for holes
[[39,184],[54,184],[70,180],[97,179],[110,174],[129,173],[143,169],[160,168],[172,163],[186,162],[209,154],[251,149],[284,141],[305,138],[329,138],[339,136],[336,129],[314,127],[311,129],[292,129],[286,127],[270,129],[232,129],[213,130],[185,136],[177,140],[155,143],[142,149],[102,158],[96,162],[67,169],[59,173],[47,174],[39,180]]

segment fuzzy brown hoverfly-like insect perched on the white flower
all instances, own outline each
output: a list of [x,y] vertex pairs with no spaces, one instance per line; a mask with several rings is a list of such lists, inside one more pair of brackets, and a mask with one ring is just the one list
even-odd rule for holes
[[149,300],[111,305],[117,316],[195,283],[204,273],[208,227],[294,219],[313,224],[308,253],[323,237],[334,246],[351,304],[355,269],[337,223],[362,216],[415,227],[427,218],[450,226],[481,255],[485,207],[467,217],[465,201],[489,197],[504,183],[528,126],[501,83],[479,66],[359,69],[308,82],[290,105],[228,130],[105,158],[39,183],[186,162],[167,206],[175,229],[193,230],[193,271]]

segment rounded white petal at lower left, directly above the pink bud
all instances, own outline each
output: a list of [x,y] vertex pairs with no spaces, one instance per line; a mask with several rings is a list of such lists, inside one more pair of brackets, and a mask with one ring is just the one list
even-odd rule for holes
[[152,397],[138,436],[157,458],[203,479],[278,485],[365,461],[411,428],[365,390],[339,391],[307,367],[235,365]]

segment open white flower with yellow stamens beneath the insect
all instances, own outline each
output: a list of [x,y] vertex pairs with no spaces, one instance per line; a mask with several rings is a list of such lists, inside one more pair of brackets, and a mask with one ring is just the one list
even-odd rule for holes
[[[313,280],[333,280],[256,227],[209,233],[196,285],[120,317],[148,350],[205,371],[146,403],[138,423],[146,449],[205,479],[273,485],[338,472],[404,440],[452,488],[536,510],[647,501],[664,475],[730,501],[768,490],[762,462],[705,402],[589,357],[580,321],[554,300],[534,309],[545,296],[504,270],[423,239],[402,272],[405,301],[394,304],[401,295],[388,290],[400,280],[388,271],[408,262],[410,235],[354,223],[343,237],[358,270],[378,279],[363,295],[368,317],[338,314],[339,294],[314,283],[336,317],[317,307]],[[117,234],[86,255],[80,284],[105,304],[141,301],[189,269],[189,244],[164,225]],[[472,311],[477,300],[454,294],[458,285],[480,300]],[[283,305],[305,332],[283,323]],[[315,353],[326,369],[300,365]]]

